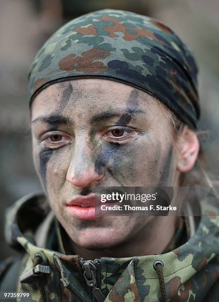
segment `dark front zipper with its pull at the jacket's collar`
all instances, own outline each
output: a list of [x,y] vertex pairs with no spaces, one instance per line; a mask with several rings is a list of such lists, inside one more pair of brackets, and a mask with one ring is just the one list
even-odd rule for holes
[[103,302],[105,300],[105,297],[101,290],[98,288],[98,283],[100,281],[98,274],[99,259],[95,259],[94,261],[84,261],[82,258],[80,258],[79,261],[84,271],[83,275],[88,285],[88,293],[92,302]]

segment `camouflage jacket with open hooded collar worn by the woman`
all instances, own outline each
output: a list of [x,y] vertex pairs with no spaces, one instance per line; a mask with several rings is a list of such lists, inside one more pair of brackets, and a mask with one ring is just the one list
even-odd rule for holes
[[202,217],[195,234],[173,251],[87,261],[60,252],[53,213],[45,217],[41,199],[39,195],[25,196],[7,211],[7,242],[23,251],[16,291],[30,293],[28,299],[17,298],[17,301],[162,301],[158,273],[153,267],[155,261],[164,264],[167,301],[207,301],[206,295],[217,283],[218,200],[200,202]]

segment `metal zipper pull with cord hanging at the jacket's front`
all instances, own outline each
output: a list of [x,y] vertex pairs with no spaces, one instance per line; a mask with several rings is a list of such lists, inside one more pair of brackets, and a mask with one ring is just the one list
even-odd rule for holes
[[86,261],[82,265],[82,269],[84,270],[84,278],[88,286],[91,288],[92,295],[96,298],[98,302],[103,302],[105,297],[101,290],[96,287],[96,266],[92,260]]

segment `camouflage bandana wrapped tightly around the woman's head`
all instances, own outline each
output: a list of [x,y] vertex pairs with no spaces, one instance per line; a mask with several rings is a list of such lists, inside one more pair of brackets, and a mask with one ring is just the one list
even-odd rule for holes
[[48,85],[80,77],[111,79],[146,91],[196,128],[196,63],[188,47],[156,19],[104,9],[61,27],[32,64],[30,103]]

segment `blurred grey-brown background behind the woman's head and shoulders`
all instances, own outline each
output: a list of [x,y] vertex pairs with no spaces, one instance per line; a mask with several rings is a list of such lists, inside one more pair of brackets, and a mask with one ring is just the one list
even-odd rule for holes
[[[219,179],[218,0],[0,0],[0,259],[13,254],[3,236],[6,206],[41,190],[32,161],[27,76],[44,41],[74,17],[103,8],[162,20],[189,45],[199,64],[202,142]],[[219,183],[217,183],[219,185]]]

